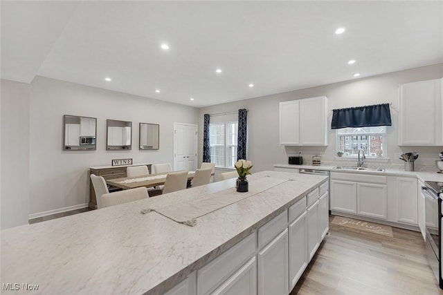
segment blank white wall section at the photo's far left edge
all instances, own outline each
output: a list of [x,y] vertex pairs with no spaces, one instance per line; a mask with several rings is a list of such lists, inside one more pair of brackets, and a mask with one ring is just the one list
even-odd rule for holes
[[1,79],[1,229],[28,224],[29,91]]

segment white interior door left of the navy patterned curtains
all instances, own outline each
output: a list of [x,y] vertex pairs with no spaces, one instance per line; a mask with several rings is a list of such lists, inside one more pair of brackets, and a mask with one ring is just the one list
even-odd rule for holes
[[174,171],[197,169],[197,125],[174,123]]

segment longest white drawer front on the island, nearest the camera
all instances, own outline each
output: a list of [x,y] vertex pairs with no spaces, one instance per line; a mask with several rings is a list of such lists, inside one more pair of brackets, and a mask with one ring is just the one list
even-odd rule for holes
[[197,294],[210,294],[255,254],[255,232],[197,271]]

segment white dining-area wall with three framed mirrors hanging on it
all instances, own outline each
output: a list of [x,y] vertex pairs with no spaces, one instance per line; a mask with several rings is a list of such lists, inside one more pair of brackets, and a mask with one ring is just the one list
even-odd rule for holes
[[[174,122],[197,124],[197,108],[35,77],[30,86],[29,212],[51,213],[89,202],[88,169],[112,159],[173,162]],[[62,151],[62,116],[97,118],[96,151]],[[132,150],[106,151],[106,120],[132,122]],[[160,124],[160,149],[138,150],[138,123]],[[49,211],[49,212],[48,212]]]

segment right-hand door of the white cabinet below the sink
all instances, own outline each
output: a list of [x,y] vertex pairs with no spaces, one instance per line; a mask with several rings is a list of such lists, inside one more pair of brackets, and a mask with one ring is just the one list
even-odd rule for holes
[[388,219],[386,184],[357,183],[357,214]]

